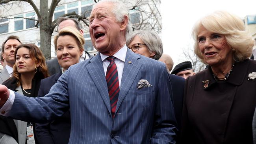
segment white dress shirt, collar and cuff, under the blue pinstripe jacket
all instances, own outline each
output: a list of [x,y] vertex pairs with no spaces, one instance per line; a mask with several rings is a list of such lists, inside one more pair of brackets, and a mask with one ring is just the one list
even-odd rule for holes
[[[127,52],[127,46],[124,44],[124,46],[113,56],[116,57],[115,64],[117,65],[117,72],[118,72],[118,80],[119,80],[119,87],[121,87],[121,79],[122,79],[122,71],[124,70],[124,61],[126,57],[126,52]],[[89,57],[89,56],[88,56]],[[102,60],[105,76],[107,73],[107,68],[109,65],[109,61],[106,59],[108,55],[104,55],[100,53],[100,57]],[[7,66],[7,65],[6,65]],[[4,106],[0,109],[0,115],[2,116],[8,116],[9,111],[11,110],[11,107],[13,106],[15,94],[13,90],[10,90],[10,95]]]

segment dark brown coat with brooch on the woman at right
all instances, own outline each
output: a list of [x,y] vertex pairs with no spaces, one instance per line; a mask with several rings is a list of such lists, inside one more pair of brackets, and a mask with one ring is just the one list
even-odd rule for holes
[[[236,62],[226,81],[216,81],[211,66],[189,76],[182,111],[184,144],[252,144],[256,105],[256,61]],[[204,88],[202,81],[209,80]]]

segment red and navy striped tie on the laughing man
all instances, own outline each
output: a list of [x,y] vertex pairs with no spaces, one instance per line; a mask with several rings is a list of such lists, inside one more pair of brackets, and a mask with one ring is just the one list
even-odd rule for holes
[[107,60],[110,62],[107,68],[106,80],[108,84],[108,94],[111,103],[111,113],[112,118],[115,116],[115,109],[117,107],[117,100],[119,96],[119,81],[117,73],[117,65],[114,61],[115,57],[107,57]]

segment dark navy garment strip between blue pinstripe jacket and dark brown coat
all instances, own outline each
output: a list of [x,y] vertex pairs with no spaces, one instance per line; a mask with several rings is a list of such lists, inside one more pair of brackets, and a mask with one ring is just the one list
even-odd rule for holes
[[180,132],[185,79],[180,76],[170,74],[170,80],[173,89],[174,113],[178,124],[177,128]]

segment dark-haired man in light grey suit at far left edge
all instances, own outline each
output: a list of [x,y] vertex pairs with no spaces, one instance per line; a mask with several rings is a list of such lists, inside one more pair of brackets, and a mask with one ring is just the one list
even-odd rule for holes
[[2,56],[6,61],[5,68],[0,71],[0,84],[10,78],[13,73],[13,65],[15,64],[14,51],[21,44],[19,37],[11,35],[7,37],[2,44]]

